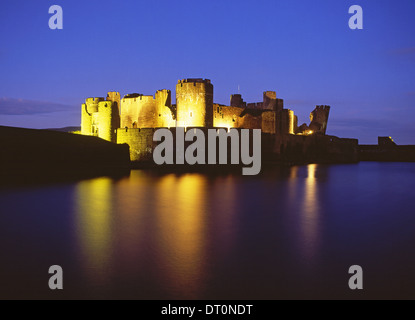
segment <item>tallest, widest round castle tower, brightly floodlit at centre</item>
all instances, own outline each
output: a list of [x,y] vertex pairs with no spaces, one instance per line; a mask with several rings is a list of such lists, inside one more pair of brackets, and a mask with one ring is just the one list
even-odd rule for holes
[[213,85],[208,79],[184,79],[176,85],[178,127],[213,126]]

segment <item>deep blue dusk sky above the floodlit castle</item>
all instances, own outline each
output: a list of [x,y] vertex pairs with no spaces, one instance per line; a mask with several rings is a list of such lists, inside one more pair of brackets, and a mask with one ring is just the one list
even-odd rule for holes
[[[48,9],[63,8],[63,30]],[[348,9],[363,8],[363,30]],[[5,0],[0,10],[0,125],[79,126],[85,98],[207,78],[214,101],[274,90],[327,133],[415,144],[415,1]]]

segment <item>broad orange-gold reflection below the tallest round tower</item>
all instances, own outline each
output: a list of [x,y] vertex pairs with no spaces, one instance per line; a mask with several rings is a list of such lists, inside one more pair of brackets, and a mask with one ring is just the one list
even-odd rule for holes
[[197,296],[203,286],[206,177],[199,174],[161,178],[156,191],[162,272],[181,296]]

